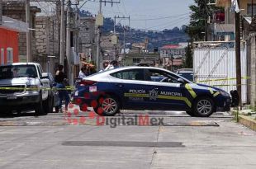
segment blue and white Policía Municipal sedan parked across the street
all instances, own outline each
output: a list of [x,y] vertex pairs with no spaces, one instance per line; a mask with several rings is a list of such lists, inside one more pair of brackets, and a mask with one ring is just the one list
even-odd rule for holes
[[78,82],[73,103],[81,110],[93,107],[99,115],[120,110],[183,110],[208,117],[230,110],[230,94],[216,87],[190,82],[163,68],[115,68]]

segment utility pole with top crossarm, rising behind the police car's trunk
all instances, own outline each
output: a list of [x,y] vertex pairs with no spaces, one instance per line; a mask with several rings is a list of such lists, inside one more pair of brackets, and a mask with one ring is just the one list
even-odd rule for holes
[[[102,2],[105,3],[105,6],[107,3],[111,3],[111,7],[113,7],[114,3],[120,3],[120,0],[118,2],[115,2],[113,0],[111,1],[107,1],[107,0],[100,0],[99,1],[99,11],[98,14],[99,16],[102,15]],[[101,62],[100,62],[100,51],[101,51],[101,26],[97,26],[97,53],[96,53],[96,65],[97,65],[97,71],[100,70],[101,66]]]

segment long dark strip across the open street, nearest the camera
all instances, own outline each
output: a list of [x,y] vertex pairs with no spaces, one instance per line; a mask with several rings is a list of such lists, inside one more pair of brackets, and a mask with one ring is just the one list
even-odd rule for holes
[[183,148],[182,142],[65,141],[64,146]]

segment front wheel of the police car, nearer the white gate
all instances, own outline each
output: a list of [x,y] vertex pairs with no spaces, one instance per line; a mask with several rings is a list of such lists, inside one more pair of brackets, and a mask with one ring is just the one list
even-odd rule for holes
[[194,115],[198,117],[209,117],[212,115],[214,103],[211,98],[204,96],[199,97],[193,106]]

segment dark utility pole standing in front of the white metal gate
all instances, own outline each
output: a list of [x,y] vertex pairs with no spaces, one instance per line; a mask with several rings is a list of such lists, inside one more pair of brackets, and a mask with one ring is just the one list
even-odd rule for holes
[[[239,0],[237,0],[239,5]],[[240,12],[235,12],[235,63],[236,87],[239,94],[239,106],[242,108],[242,81],[241,81],[241,49],[240,49]]]

